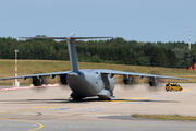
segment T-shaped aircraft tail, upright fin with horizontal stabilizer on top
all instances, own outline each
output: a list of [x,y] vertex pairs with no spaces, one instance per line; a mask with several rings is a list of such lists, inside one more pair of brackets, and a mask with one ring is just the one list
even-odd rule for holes
[[75,39],[98,39],[98,38],[111,38],[111,37],[75,37],[75,33],[71,33],[68,37],[20,37],[26,39],[66,39],[69,47],[69,56],[71,69],[73,72],[78,72],[77,52],[75,47]]

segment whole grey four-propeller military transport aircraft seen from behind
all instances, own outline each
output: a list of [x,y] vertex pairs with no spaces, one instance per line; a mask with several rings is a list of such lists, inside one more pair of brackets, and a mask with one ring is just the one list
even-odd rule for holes
[[115,86],[114,75],[123,75],[124,84],[133,82],[134,76],[149,78],[149,85],[157,86],[159,79],[175,79],[175,80],[187,80],[183,78],[172,78],[155,74],[143,74],[134,72],[123,72],[107,69],[78,69],[77,53],[75,47],[75,39],[97,39],[97,38],[111,38],[111,37],[75,37],[72,33],[68,37],[21,37],[26,39],[66,39],[71,62],[71,71],[53,72],[53,73],[41,73],[41,74],[30,74],[22,76],[12,78],[1,78],[0,80],[10,79],[33,79],[33,84],[39,86],[42,84],[44,76],[50,76],[54,79],[56,75],[60,76],[60,82],[62,84],[68,84],[72,90],[71,97],[73,100],[81,100],[85,97],[98,96],[101,99],[113,98],[113,90]]

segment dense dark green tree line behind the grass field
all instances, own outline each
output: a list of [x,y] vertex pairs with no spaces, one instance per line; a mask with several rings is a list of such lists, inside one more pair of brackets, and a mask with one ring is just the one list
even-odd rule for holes
[[[37,35],[36,37],[46,37]],[[0,38],[0,59],[69,60],[65,40]],[[78,61],[117,64],[188,68],[196,63],[196,44],[192,49],[184,41],[142,43],[121,37],[107,40],[76,40]]]

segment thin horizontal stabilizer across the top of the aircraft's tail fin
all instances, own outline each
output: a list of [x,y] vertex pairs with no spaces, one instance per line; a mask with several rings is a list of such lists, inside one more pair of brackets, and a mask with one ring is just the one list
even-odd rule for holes
[[[66,39],[66,37],[20,37],[25,39]],[[70,37],[70,39],[99,39],[99,38],[111,38],[111,37]]]

